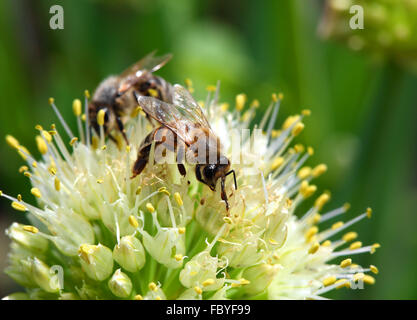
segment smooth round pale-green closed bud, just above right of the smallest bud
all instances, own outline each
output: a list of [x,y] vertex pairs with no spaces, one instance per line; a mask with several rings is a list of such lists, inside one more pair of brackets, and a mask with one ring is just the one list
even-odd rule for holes
[[139,239],[124,236],[120,239],[120,244],[114,247],[113,258],[127,271],[136,272],[145,264],[145,250]]

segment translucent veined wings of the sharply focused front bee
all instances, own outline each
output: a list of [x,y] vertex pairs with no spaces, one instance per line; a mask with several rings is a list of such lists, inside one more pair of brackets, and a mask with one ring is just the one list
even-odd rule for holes
[[174,86],[172,104],[136,93],[135,96],[146,114],[171,129],[186,144],[191,145],[194,142],[195,129],[206,129],[215,136],[200,106],[184,87]]

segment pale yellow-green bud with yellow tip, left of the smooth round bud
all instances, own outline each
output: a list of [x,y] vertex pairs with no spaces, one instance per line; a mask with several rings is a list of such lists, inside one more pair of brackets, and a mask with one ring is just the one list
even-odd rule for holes
[[112,251],[101,244],[82,244],[78,255],[83,270],[91,279],[102,281],[113,272]]

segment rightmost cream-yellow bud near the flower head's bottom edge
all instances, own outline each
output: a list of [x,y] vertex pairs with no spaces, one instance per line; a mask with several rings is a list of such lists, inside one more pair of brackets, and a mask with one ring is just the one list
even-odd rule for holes
[[257,294],[265,290],[274,279],[279,269],[278,265],[259,264],[243,271],[242,277],[249,280],[242,289],[248,294]]

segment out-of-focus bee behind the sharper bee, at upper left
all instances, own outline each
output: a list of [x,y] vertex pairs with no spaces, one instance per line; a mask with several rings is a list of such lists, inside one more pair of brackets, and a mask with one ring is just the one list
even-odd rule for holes
[[167,54],[155,57],[152,52],[116,76],[109,76],[97,87],[88,106],[90,125],[99,134],[97,113],[104,109],[104,134],[116,142],[111,134],[113,130],[122,133],[129,144],[124,130],[124,119],[137,107],[133,90],[140,95],[153,96],[165,102],[172,102],[172,85],[163,78],[153,75],[153,72],[162,68],[172,55]]

